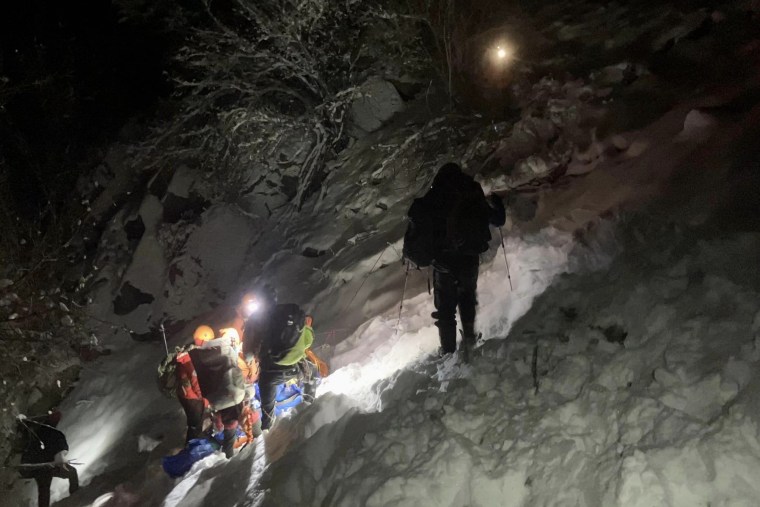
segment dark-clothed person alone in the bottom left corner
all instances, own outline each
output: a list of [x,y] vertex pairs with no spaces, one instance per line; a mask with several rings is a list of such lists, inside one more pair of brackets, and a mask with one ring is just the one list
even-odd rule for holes
[[37,483],[39,507],[50,505],[50,484],[53,477],[69,480],[69,493],[79,489],[76,469],[66,462],[69,444],[66,436],[56,429],[61,413],[53,411],[40,420],[23,419],[20,424],[24,433],[24,452],[21,455],[19,473],[25,479]]

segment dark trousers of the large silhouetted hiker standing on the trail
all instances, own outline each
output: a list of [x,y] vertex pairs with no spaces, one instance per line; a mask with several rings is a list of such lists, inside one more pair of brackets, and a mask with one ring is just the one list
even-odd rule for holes
[[435,312],[432,317],[438,327],[443,353],[457,350],[457,307],[465,339],[475,339],[479,264],[478,256],[462,255],[447,259],[445,265],[433,265]]

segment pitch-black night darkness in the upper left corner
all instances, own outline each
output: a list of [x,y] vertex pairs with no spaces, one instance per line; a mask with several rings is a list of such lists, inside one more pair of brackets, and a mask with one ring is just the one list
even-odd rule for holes
[[[155,18],[153,18],[155,19]],[[83,164],[169,94],[169,39],[108,0],[28,0],[0,11],[0,184],[22,219],[65,203]]]

